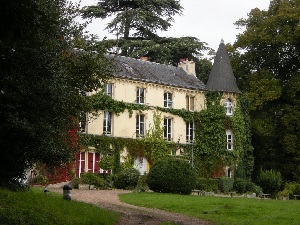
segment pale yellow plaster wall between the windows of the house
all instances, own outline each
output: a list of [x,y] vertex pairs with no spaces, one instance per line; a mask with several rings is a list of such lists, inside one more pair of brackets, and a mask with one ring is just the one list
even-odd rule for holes
[[[191,76],[191,75],[187,75]],[[187,96],[194,98],[194,111],[201,111],[205,107],[205,96],[202,91],[189,90],[184,88],[177,88],[171,86],[164,86],[160,84],[145,83],[140,81],[133,81],[127,79],[112,79],[109,83],[113,84],[112,98],[117,101],[124,101],[127,103],[136,103],[137,88],[145,89],[145,103],[147,106],[164,108],[164,93],[172,94],[173,109],[186,109]],[[112,113],[111,120],[111,136],[123,138],[136,138],[136,116],[145,116],[145,129],[153,126],[154,110],[135,111],[130,117],[129,113],[125,111],[119,115]],[[87,133],[102,135],[104,126],[103,111],[98,118],[88,119]],[[179,116],[161,112],[162,126],[164,118],[172,119],[172,140],[174,142],[186,143],[186,122]]]

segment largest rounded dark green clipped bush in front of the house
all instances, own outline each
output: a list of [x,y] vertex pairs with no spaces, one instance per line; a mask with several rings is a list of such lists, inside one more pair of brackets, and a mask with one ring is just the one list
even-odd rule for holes
[[185,160],[164,158],[152,165],[147,183],[155,192],[190,194],[196,184],[196,172]]

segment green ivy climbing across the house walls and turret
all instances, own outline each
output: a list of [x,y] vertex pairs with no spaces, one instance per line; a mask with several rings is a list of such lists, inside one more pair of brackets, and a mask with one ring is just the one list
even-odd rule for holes
[[[239,176],[250,178],[253,167],[253,148],[250,119],[247,114],[247,98],[242,95],[239,97],[234,116],[229,117],[225,114],[224,106],[220,105],[222,96],[222,93],[207,92],[206,109],[200,112],[190,112],[185,109],[166,109],[125,103],[98,93],[89,97],[91,111],[109,110],[118,115],[127,110],[131,117],[134,111],[154,110],[154,125],[144,139],[81,135],[79,143],[84,148],[93,147],[103,156],[113,155],[113,165],[110,166],[115,172],[121,169],[120,153],[124,148],[128,151],[124,163],[126,166],[132,166],[136,157],[145,157],[152,164],[155,160],[174,154],[176,149],[181,148],[184,157],[190,160],[197,169],[199,177],[219,177],[223,175],[224,166],[229,165],[234,170],[235,165],[238,165]],[[164,141],[161,112],[177,115],[186,122],[194,121],[195,143],[185,145]],[[233,132],[234,149],[232,151],[226,149],[226,129],[231,129]],[[110,163],[111,161],[110,159]]]

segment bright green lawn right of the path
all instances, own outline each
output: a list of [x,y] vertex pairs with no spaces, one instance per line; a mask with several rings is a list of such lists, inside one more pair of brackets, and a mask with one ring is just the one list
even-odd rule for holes
[[298,225],[300,201],[161,193],[122,194],[121,201],[177,212],[218,225]]

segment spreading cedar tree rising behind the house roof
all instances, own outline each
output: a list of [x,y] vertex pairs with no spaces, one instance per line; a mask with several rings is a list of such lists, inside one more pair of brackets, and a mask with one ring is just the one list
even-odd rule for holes
[[[157,30],[168,30],[174,15],[180,15],[182,10],[178,0],[100,0],[96,6],[84,7],[82,15],[102,19],[116,15],[106,29],[116,32],[117,39],[99,42],[113,54],[133,58],[147,56],[153,62],[174,66],[180,59],[189,58],[196,62],[197,71],[211,68],[207,61],[199,60],[202,51],[208,50],[205,42],[195,37],[166,38],[156,34]],[[201,76],[206,79],[208,72]]]

